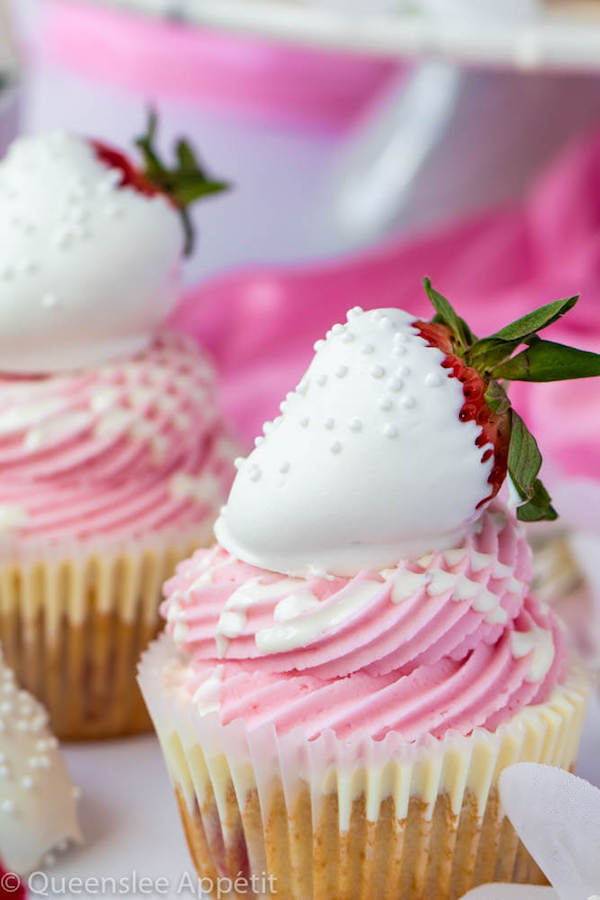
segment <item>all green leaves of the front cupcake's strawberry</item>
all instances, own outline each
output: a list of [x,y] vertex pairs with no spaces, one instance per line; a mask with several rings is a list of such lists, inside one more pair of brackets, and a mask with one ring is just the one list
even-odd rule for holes
[[[449,301],[434,290],[428,278],[424,280],[424,286],[436,312],[433,321],[450,329],[456,353],[483,377],[488,407],[497,415],[510,416],[507,468],[522,500],[517,509],[518,518],[524,522],[556,519],[550,495],[538,478],[542,465],[538,445],[524,421],[511,408],[502,382],[562,381],[600,376],[599,354],[545,341],[537,334],[573,309],[579,298],[568,297],[547,303],[478,340]],[[515,354],[523,344],[525,349]]]

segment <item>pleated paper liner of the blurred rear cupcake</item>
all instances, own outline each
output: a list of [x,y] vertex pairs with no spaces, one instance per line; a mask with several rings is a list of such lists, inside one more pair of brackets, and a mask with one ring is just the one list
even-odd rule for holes
[[0,560],[0,642],[21,687],[48,709],[63,740],[151,728],[136,681],[161,628],[164,581],[210,542],[206,526],[147,541],[86,541]]

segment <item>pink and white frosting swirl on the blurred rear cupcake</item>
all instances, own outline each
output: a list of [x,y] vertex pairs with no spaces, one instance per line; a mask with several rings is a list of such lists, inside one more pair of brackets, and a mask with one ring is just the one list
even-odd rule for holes
[[93,369],[1,375],[0,549],[209,523],[232,453],[213,371],[184,336]]

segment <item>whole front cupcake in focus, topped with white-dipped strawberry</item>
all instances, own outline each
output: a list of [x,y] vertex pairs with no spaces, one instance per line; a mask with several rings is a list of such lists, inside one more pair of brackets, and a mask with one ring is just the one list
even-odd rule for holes
[[[316,343],[166,585],[140,682],[213,896],[543,881],[498,778],[573,766],[588,685],[530,591],[519,520],[556,512],[502,383],[547,377],[534,334],[569,302],[478,341],[426,286],[433,322],[355,308]],[[564,377],[598,366],[552,348]]]

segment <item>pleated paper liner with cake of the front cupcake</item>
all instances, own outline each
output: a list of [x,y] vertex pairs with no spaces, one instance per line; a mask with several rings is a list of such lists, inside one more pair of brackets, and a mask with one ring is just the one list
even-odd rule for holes
[[[249,733],[241,721],[222,726],[179,686],[183,666],[163,635],[139,680],[213,896],[454,900],[488,881],[545,883],[502,814],[498,777],[520,761],[574,765],[583,674],[495,733],[415,746],[397,734],[342,741],[328,732],[308,742],[271,727]],[[244,890],[227,891],[240,877]]]

